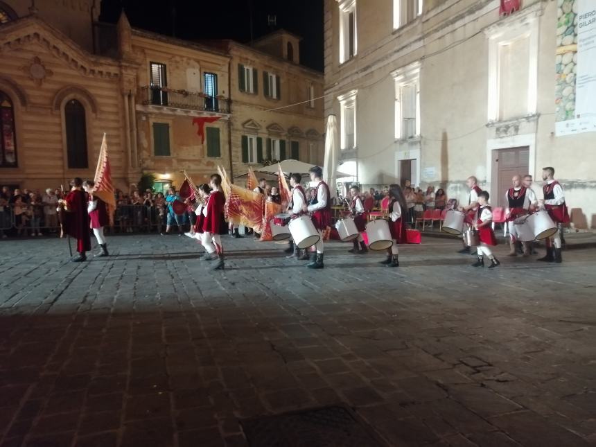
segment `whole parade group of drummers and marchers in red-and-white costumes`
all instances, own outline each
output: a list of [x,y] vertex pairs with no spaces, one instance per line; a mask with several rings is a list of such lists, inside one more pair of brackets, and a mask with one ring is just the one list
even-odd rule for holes
[[[274,235],[286,234],[289,240],[286,249],[290,253],[288,257],[309,260],[306,263],[308,268],[322,269],[324,234],[328,233],[332,225],[331,191],[322,179],[322,168],[310,168],[309,175],[311,184],[316,185],[310,200],[307,201],[301,185],[302,176],[299,173],[290,174],[290,187],[286,196],[288,200],[283,203],[285,212],[274,216],[270,222],[265,221],[265,225],[270,223],[267,230],[273,231]],[[224,178],[225,180],[227,179]],[[541,199],[530,188],[531,175],[523,178],[515,175],[512,180],[511,188],[505,193],[511,249],[509,255],[516,256],[516,246],[520,246],[524,256],[529,256],[532,241],[542,239],[546,254],[539,260],[560,263],[562,227],[570,219],[563,188],[554,179],[554,168],[543,168]],[[285,178],[283,182],[286,182]],[[91,249],[90,227],[100,247],[96,256],[109,256],[103,231],[109,225],[109,207],[94,194],[94,186],[94,182],[83,182],[82,179],[75,178],[71,181],[71,191],[64,200],[60,200],[60,207],[64,212],[64,231],[77,240],[78,255],[71,259],[73,262],[87,259],[86,253]],[[211,175],[209,184],[191,186],[191,197],[187,198],[186,204],[192,199],[196,218],[193,219],[193,228],[187,235],[197,239],[204,247],[205,253],[201,258],[213,261],[212,270],[223,270],[225,255],[221,236],[229,232],[238,236],[238,227],[234,227],[226,203],[231,200],[230,193],[225,191],[225,182],[222,184],[221,171]],[[489,193],[480,189],[475,177],[469,177],[466,186],[469,190],[468,204],[459,204],[455,209],[447,211],[444,229],[464,236],[464,248],[460,253],[471,253],[471,247],[475,247],[477,261],[473,263],[474,267],[484,267],[487,259],[490,261],[489,268],[495,268],[500,262],[491,250],[497,240],[493,231]],[[258,189],[261,189],[261,185],[256,187],[255,192]],[[389,186],[389,203],[383,210],[383,218],[377,220],[368,220],[358,186],[351,186],[350,195],[351,200],[347,200],[349,215],[335,225],[340,238],[352,241],[351,253],[366,253],[369,249],[386,250],[387,257],[381,264],[398,267],[398,246],[407,243],[407,201],[401,186]]]

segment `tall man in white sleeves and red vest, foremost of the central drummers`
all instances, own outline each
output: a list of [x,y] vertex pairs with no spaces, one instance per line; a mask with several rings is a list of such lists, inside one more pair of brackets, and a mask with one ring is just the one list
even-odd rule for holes
[[331,224],[331,194],[329,193],[329,186],[323,182],[323,170],[319,166],[313,166],[308,170],[310,174],[310,180],[312,182],[318,182],[313,198],[310,199],[308,207],[306,204],[302,207],[303,211],[310,213],[310,219],[313,220],[313,225],[317,229],[319,234],[319,242],[315,245],[317,253],[315,258],[306,266],[308,268],[324,268],[323,256],[324,256],[324,244],[323,244],[323,232]]

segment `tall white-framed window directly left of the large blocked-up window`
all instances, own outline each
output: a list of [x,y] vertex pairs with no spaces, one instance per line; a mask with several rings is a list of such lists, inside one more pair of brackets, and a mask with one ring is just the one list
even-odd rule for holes
[[392,73],[395,80],[395,138],[412,139],[420,135],[420,65]]

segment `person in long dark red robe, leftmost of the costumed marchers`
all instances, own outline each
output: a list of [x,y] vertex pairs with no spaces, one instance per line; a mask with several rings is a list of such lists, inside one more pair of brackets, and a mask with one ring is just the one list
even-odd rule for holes
[[76,177],[71,180],[71,191],[62,205],[66,208],[64,216],[64,231],[76,238],[76,251],[78,256],[72,258],[72,262],[87,261],[87,252],[91,249],[91,238],[89,236],[89,213],[87,213],[87,193],[82,191],[82,180]]

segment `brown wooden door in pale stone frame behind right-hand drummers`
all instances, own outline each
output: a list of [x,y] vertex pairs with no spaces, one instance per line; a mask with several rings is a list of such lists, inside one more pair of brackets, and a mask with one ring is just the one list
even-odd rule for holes
[[[493,207],[507,207],[505,192],[511,188],[514,175],[524,176],[528,173],[529,147],[507,148],[493,151],[493,182],[491,204]],[[496,197],[495,197],[496,195]]]

